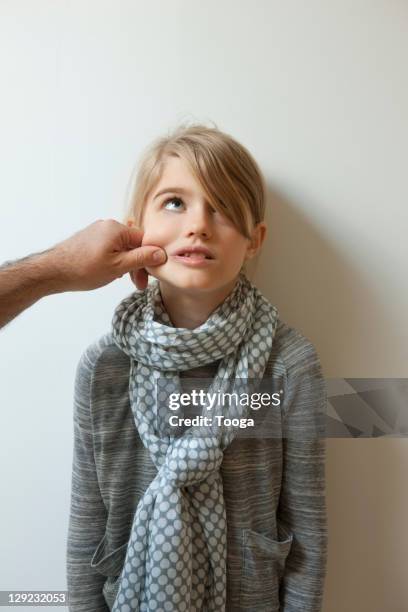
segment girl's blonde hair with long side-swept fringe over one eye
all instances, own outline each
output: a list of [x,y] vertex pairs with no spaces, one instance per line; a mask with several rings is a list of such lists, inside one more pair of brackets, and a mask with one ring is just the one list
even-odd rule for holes
[[137,227],[142,226],[147,200],[161,178],[166,158],[171,156],[188,164],[210,204],[250,239],[253,227],[265,216],[266,191],[259,166],[232,136],[217,126],[197,123],[181,124],[143,150],[136,176],[135,170],[131,176],[133,188],[124,222],[131,217]]

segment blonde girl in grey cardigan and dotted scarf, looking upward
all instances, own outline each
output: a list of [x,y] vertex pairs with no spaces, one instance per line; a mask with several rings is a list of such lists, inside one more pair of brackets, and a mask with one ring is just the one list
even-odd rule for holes
[[[325,384],[313,345],[245,274],[264,212],[257,163],[217,128],[179,127],[140,160],[127,222],[167,260],[147,268],[146,289],[122,300],[77,368],[72,612],[321,610]],[[219,423],[172,435],[157,391],[186,377],[214,390],[278,380],[268,409],[284,435]]]

